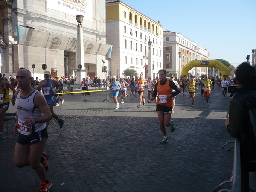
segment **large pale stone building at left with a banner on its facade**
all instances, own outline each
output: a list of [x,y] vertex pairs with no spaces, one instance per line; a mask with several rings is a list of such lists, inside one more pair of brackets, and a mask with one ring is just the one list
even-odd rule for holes
[[[110,49],[105,44],[105,0],[0,0],[0,8],[2,73],[25,67],[42,78],[46,64],[54,77],[79,76],[81,64],[86,74],[105,76],[102,60]],[[76,61],[76,15],[84,16],[84,63]]]

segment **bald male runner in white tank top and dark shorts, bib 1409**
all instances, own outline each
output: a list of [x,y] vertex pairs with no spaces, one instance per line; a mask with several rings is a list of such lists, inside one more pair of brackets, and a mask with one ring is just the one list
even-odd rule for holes
[[19,70],[16,80],[19,90],[14,95],[17,120],[13,131],[19,135],[13,162],[19,168],[31,166],[41,180],[40,191],[49,191],[52,187],[46,177],[49,155],[44,151],[44,145],[48,138],[46,122],[52,119],[52,114],[44,96],[30,86],[32,77],[29,70]]

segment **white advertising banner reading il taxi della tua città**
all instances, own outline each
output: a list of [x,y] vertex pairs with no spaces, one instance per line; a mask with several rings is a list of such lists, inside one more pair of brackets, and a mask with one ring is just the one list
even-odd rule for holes
[[92,0],[47,0],[47,8],[68,15],[84,15],[85,20],[93,20]]

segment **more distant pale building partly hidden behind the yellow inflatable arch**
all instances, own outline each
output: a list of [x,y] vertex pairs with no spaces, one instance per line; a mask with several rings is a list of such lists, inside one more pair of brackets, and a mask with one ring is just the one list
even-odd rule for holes
[[[163,68],[168,72],[176,73],[180,77],[182,68],[189,61],[208,60],[210,53],[189,40],[180,33],[172,31],[163,32]],[[194,67],[189,71],[189,76],[198,78],[206,74],[206,67]]]

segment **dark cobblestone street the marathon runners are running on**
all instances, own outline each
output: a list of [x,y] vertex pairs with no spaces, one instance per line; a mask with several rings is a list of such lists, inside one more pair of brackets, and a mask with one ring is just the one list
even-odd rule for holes
[[[172,114],[175,132],[167,130],[169,143],[161,145],[155,103],[137,108],[138,96],[119,102],[105,92],[90,93],[87,101],[81,94],[64,95],[64,105],[54,107],[65,119],[63,128],[51,120],[47,177],[51,192],[210,192],[230,180],[233,149],[221,148],[233,140],[225,127],[229,94],[221,89],[211,93],[206,106],[196,93],[191,107],[188,93],[177,96]],[[15,112],[10,106],[8,112]],[[0,140],[1,192],[35,192],[39,178],[30,167],[16,168],[13,151],[17,136],[14,121],[5,122],[6,139]],[[225,185],[230,189],[230,184]]]

